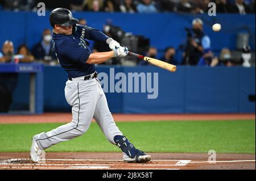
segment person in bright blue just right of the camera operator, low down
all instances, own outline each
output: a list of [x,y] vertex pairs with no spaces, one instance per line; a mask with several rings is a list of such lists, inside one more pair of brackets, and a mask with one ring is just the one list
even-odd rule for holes
[[210,66],[214,67],[219,64],[218,57],[213,57],[213,53],[210,49],[205,49],[203,57],[200,58],[197,66]]

